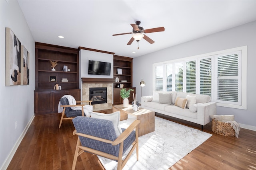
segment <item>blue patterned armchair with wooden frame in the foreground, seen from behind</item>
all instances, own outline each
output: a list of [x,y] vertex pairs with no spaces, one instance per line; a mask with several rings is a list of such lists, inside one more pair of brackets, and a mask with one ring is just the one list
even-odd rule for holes
[[[76,167],[77,157],[83,152],[90,152],[117,161],[117,170],[124,167],[134,149],[136,149],[138,160],[139,120],[135,120],[127,129],[122,128],[123,133],[119,137],[117,137],[114,125],[110,120],[78,116],[72,121],[76,128],[73,135],[78,135],[72,170]],[[133,145],[132,149],[122,160],[124,152],[128,151],[131,145]]]

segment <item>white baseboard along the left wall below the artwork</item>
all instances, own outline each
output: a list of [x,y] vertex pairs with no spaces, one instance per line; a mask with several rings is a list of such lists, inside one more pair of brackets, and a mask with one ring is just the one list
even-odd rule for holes
[[21,133],[18,141],[15,143],[15,145],[12,147],[12,150],[10,152],[10,154],[8,155],[8,157],[6,158],[6,160],[4,161],[3,166],[0,168],[0,170],[6,170],[16,152],[16,150],[18,149],[22,139],[24,138],[24,136],[26,135],[26,132],[28,131],[28,128],[30,126],[30,124],[32,123],[33,119],[34,119],[35,115],[33,115],[30,119],[30,121],[28,122],[28,124],[26,125],[24,131]]

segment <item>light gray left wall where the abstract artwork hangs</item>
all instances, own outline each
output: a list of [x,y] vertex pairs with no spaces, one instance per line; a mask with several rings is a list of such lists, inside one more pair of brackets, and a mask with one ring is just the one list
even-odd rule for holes
[[[5,27],[30,53],[29,85],[5,86]],[[5,169],[34,117],[35,43],[16,0],[0,0],[0,37],[0,169]]]

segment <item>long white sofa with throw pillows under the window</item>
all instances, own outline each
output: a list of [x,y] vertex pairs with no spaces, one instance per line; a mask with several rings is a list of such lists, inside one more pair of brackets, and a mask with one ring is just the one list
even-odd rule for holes
[[[204,125],[211,121],[210,115],[216,114],[216,103],[210,100],[210,96],[203,94],[154,91],[153,96],[142,96],[141,106],[156,113],[197,123],[203,131]],[[184,105],[180,102],[187,102],[186,108],[181,108]]]

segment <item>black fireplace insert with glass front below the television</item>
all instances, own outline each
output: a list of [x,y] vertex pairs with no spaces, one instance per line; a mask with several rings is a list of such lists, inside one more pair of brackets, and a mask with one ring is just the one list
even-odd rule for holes
[[92,100],[92,104],[107,103],[107,88],[89,88],[89,100]]

